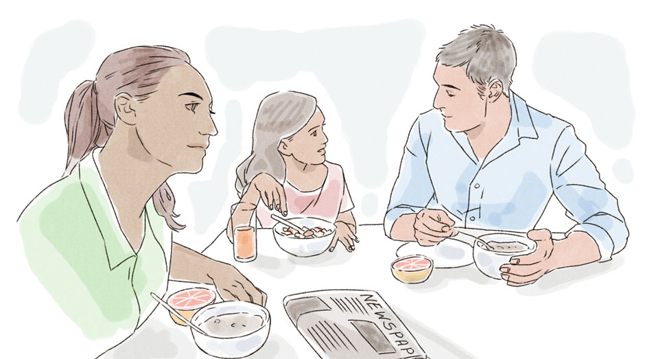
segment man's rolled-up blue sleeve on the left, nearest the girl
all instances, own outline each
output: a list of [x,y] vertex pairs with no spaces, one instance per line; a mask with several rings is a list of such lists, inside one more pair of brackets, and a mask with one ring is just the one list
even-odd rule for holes
[[[396,178],[389,205],[385,213],[383,226],[385,235],[390,236],[394,222],[407,213],[418,213],[434,198],[434,189],[426,167],[426,148],[423,145],[423,134],[419,119],[410,129],[406,142],[399,175]],[[427,141],[426,141],[427,143]]]

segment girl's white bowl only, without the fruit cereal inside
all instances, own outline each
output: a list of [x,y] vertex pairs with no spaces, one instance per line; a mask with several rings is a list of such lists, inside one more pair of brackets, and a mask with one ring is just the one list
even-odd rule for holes
[[330,234],[324,235],[323,237],[300,239],[284,235],[283,227],[288,227],[285,224],[275,224],[273,232],[277,244],[279,244],[279,247],[281,247],[283,251],[296,257],[312,257],[324,253],[335,236],[335,224],[326,220],[321,220],[319,218],[289,218],[288,221],[299,227],[321,227],[332,231]]

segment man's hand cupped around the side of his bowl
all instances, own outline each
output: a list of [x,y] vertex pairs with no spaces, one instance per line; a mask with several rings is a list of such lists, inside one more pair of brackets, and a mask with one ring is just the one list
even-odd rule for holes
[[512,257],[509,264],[500,267],[502,279],[508,286],[525,286],[534,283],[550,270],[556,269],[550,260],[555,242],[548,229],[533,229],[528,232],[528,238],[537,243],[537,249],[528,255]]

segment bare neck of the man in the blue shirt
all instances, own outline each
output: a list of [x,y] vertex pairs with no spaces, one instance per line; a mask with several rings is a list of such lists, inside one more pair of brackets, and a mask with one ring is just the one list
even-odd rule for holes
[[509,98],[503,95],[496,102],[487,106],[487,115],[479,126],[465,131],[471,149],[478,160],[484,160],[498,142],[505,137],[510,121]]

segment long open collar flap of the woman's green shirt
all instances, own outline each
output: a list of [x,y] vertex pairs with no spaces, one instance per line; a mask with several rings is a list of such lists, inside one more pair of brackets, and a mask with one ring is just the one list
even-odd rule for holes
[[78,171],[86,200],[104,241],[108,265],[113,270],[130,257],[135,257],[136,253],[120,229],[115,208],[106,192],[97,161],[99,153],[100,148],[93,150],[91,155],[80,162]]

